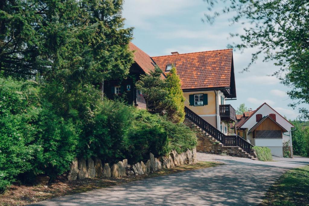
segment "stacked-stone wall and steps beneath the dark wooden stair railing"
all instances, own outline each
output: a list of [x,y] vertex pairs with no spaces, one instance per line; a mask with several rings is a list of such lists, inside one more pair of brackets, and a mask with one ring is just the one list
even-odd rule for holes
[[222,143],[208,135],[200,127],[195,125],[192,121],[185,118],[184,124],[197,132],[197,152],[205,152],[211,154],[222,154],[234,157],[255,159],[240,147],[223,146]]

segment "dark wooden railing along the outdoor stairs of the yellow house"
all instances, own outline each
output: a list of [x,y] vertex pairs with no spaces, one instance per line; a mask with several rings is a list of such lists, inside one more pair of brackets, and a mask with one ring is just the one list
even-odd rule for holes
[[211,137],[221,142],[223,146],[237,146],[251,155],[251,149],[254,145],[250,144],[238,135],[225,135],[220,130],[209,124],[206,120],[195,114],[188,107],[184,107],[186,117],[202,130],[207,132]]

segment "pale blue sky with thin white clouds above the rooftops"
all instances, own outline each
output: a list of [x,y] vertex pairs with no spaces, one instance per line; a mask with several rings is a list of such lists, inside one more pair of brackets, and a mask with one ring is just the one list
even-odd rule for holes
[[[203,23],[201,19],[207,8],[208,4],[202,0],[126,0],[123,17],[125,27],[134,27],[132,42],[150,56],[225,49],[228,44],[238,42],[230,33],[242,33],[243,25],[231,26],[228,15],[219,17],[213,25]],[[286,95],[290,88],[276,77],[268,76],[279,67],[273,62],[263,62],[261,56],[248,72],[242,72],[255,51],[233,50],[237,100],[226,104],[237,109],[245,103],[255,110],[266,102],[282,116],[296,119],[297,109],[288,106],[293,102]]]

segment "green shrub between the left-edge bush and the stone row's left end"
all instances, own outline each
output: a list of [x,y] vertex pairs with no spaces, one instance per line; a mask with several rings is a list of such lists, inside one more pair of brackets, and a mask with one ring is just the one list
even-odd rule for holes
[[35,174],[46,174],[51,178],[69,169],[76,157],[79,130],[72,120],[58,116],[50,103],[44,101],[35,122],[36,144],[41,152],[32,161]]

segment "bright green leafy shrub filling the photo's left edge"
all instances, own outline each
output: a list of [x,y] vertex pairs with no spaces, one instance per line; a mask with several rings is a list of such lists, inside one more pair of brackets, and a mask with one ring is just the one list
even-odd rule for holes
[[30,161],[41,151],[30,124],[37,116],[37,95],[33,82],[0,78],[0,191],[31,170]]

